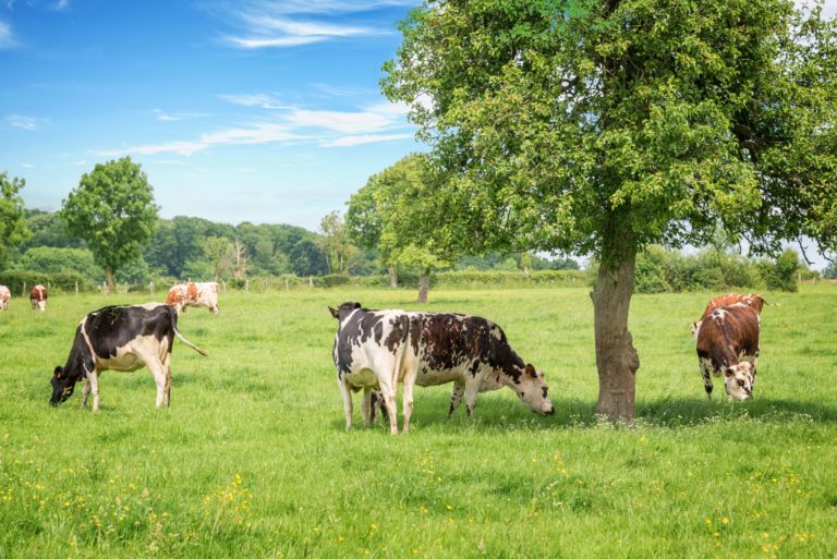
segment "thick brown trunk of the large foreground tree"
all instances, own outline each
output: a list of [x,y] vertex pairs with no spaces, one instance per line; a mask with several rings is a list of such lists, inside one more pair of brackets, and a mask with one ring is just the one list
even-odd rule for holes
[[596,336],[598,404],[596,413],[610,421],[633,420],[640,357],[628,331],[633,294],[635,250],[603,255],[598,283],[591,293]]

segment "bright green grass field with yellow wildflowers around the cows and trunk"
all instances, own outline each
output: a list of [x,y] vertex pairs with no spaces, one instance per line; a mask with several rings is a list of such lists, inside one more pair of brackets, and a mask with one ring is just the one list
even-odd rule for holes
[[[171,409],[147,369],[50,408],[82,316],[142,296],[54,295],[0,314],[0,559],[837,557],[837,285],[767,293],[755,400],[707,402],[689,327],[709,293],[636,295],[638,420],[594,415],[582,289],[432,291],[498,323],[547,372],[554,417],[511,391],[448,421],[416,388],[410,435],[343,430],[326,305],[416,308],[413,291],[222,294],[190,309]],[[81,388],[81,387],[78,387]],[[362,425],[360,396],[355,425]]]

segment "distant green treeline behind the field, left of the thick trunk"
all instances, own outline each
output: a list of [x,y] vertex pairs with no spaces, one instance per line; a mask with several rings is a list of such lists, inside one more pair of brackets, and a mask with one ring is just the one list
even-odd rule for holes
[[[49,283],[61,290],[96,289],[105,280],[102,267],[83,241],[70,236],[57,212],[26,210],[32,236],[12,248],[0,270],[0,283],[22,289],[25,283]],[[531,270],[579,269],[572,259],[526,256]],[[452,270],[514,271],[521,255],[488,254],[461,258]],[[375,251],[352,251],[348,276],[367,277],[369,283],[387,274]],[[399,270],[404,285],[412,284],[411,270]],[[218,279],[231,288],[253,283],[284,287],[293,284],[338,284],[348,282],[329,269],[323,250],[323,235],[288,224],[238,226],[208,219],[178,216],[159,219],[151,242],[137,260],[117,270],[117,281],[145,289],[154,281],[169,285],[192,279]],[[311,278],[311,279],[310,279]],[[388,284],[388,280],[380,280]],[[417,280],[416,280],[417,281]]]

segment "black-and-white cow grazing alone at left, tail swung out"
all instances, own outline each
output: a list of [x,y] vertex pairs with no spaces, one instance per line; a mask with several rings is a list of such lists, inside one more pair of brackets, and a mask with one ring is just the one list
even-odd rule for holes
[[169,305],[147,303],[106,306],[85,316],[63,367],[52,375],[52,398],[58,405],[84,380],[84,399],[93,392],[93,411],[99,411],[99,375],[102,370],[136,370],[146,366],[157,384],[157,408],[171,405],[171,345],[174,336],[206,355],[178,331],[178,315]]

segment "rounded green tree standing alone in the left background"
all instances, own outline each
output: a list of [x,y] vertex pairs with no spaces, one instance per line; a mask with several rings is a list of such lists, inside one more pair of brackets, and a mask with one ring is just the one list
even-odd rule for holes
[[148,178],[124,157],[82,175],[64,199],[61,217],[73,236],[87,242],[112,293],[116,270],[137,259],[151,240],[157,205]]

